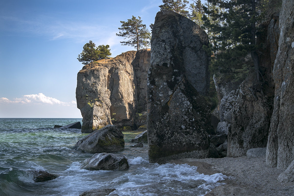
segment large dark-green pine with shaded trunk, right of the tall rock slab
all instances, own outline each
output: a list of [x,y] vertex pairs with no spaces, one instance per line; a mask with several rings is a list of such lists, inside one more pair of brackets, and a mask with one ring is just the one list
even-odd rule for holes
[[[204,7],[205,15],[202,19],[208,34],[213,35],[213,66],[220,72],[231,72],[236,66],[242,66],[242,57],[249,53],[254,63],[256,80],[259,82],[256,34],[260,30],[257,26],[263,19],[268,0],[207,1],[214,6]],[[214,22],[217,20],[220,22]]]

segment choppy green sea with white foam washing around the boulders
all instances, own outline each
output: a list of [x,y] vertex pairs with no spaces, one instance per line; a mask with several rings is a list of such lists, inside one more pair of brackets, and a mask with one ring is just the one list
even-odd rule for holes
[[[128,170],[83,170],[81,163],[93,154],[71,148],[87,134],[80,129],[53,128],[77,121],[82,119],[0,118],[0,195],[78,196],[97,188],[116,188],[110,195],[204,195],[225,178],[199,174],[195,166],[150,164],[147,144],[128,147],[140,132],[123,132],[125,149],[118,154],[128,158]],[[59,177],[36,183],[34,170]],[[200,179],[204,181],[197,184]]]

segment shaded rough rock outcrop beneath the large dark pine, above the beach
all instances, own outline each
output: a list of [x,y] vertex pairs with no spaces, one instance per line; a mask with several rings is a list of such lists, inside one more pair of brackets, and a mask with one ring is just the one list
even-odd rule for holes
[[251,148],[266,147],[273,96],[258,90],[255,85],[253,70],[237,90],[228,133],[229,157],[244,156]]

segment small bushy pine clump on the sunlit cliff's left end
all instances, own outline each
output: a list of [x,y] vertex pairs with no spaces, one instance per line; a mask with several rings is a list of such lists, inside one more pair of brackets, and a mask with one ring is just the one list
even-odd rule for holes
[[83,46],[83,51],[78,55],[78,61],[82,62],[83,65],[87,65],[91,63],[91,67],[93,67],[93,61],[97,61],[99,59],[106,59],[111,55],[109,45],[100,45],[95,47],[95,43],[93,41],[89,41]]

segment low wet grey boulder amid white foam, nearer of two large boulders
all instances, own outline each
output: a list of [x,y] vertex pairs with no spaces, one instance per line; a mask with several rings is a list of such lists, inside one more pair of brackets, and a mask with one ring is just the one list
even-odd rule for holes
[[84,160],[81,168],[86,170],[126,170],[129,168],[128,159],[123,155],[112,153],[96,153]]

